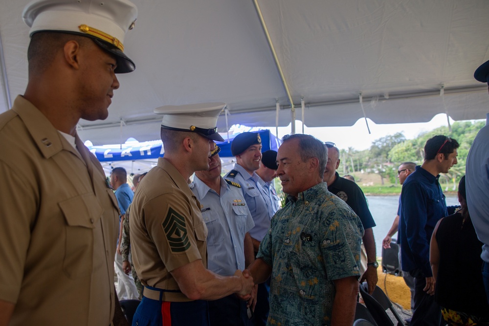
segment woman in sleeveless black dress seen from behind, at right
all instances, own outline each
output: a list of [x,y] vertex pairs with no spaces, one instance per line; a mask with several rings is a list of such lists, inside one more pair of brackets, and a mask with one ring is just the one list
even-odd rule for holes
[[486,325],[489,304],[482,281],[482,242],[468,214],[465,176],[459,183],[458,198],[461,208],[440,219],[431,237],[435,302],[449,325]]

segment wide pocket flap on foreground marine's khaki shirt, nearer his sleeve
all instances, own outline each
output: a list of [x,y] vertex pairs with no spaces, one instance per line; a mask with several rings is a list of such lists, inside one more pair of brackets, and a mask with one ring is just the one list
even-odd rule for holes
[[96,222],[104,210],[97,198],[92,195],[81,195],[58,203],[69,226],[95,228]]

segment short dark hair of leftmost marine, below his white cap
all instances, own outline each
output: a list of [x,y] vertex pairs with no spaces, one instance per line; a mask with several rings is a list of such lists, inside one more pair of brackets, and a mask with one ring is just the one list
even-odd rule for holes
[[53,63],[56,53],[68,41],[76,41],[82,46],[88,42],[93,42],[88,37],[64,32],[50,31],[34,33],[27,49],[29,74],[43,73]]

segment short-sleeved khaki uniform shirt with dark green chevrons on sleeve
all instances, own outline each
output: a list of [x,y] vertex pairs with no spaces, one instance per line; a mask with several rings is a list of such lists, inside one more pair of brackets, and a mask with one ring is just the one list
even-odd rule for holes
[[[207,228],[200,203],[187,181],[166,159],[139,183],[129,220],[131,253],[141,283],[179,290],[170,274],[198,259],[207,267]],[[191,301],[181,292],[164,292],[163,301]]]

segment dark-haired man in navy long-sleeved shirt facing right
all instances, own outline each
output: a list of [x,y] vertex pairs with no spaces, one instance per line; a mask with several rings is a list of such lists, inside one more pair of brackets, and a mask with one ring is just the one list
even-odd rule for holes
[[443,325],[435,303],[435,281],[429,262],[429,243],[436,223],[448,215],[438,179],[457,164],[459,143],[444,135],[424,146],[424,162],[410,174],[401,192],[400,240],[402,270],[414,277],[414,313],[411,326]]

